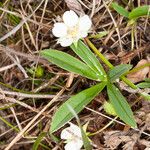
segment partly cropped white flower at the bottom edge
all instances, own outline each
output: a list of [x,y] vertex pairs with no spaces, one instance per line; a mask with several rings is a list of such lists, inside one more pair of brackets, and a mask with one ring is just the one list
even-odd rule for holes
[[81,130],[77,125],[69,123],[70,127],[65,128],[61,132],[61,139],[66,140],[65,150],[80,150],[83,141]]

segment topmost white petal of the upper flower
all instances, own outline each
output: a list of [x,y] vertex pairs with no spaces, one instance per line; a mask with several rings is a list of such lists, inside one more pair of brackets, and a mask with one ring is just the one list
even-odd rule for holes
[[63,14],[63,20],[68,27],[73,27],[78,23],[79,17],[74,11],[70,10]]

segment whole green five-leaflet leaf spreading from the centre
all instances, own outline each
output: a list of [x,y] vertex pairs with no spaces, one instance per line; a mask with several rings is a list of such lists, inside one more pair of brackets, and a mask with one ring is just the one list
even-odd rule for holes
[[69,54],[53,49],[44,50],[41,52],[41,55],[65,70],[102,82],[81,91],[63,103],[52,118],[50,134],[57,131],[68,121],[74,118],[74,115],[71,111],[69,111],[68,106],[70,106],[75,113],[78,114],[98,93],[103,90],[107,83],[107,92],[111,105],[116,113],[115,115],[120,117],[120,119],[128,125],[136,127],[136,122],[129,104],[119,89],[111,83],[129,71],[132,66],[125,64],[112,68],[108,72],[109,81],[107,81],[107,74],[105,73],[102,65],[82,41],[72,44],[71,49],[81,58],[83,62]]

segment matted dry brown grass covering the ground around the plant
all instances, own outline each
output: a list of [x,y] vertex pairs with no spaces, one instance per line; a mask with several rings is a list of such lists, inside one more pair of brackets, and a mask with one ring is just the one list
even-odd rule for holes
[[[47,149],[62,150],[63,142],[56,143],[48,135],[52,115],[68,97],[94,84],[50,64],[39,56],[42,49],[49,47],[74,55],[69,48],[57,45],[51,33],[54,22],[60,20],[64,11],[70,8],[77,13],[86,12],[90,15],[93,21],[92,34],[109,31],[107,36],[95,39],[93,43],[114,65],[121,63],[136,65],[141,59],[149,59],[148,18],[141,18],[137,22],[135,43],[131,51],[131,28],[127,27],[125,18],[110,9],[111,0],[78,0],[78,5],[69,3],[69,0],[66,2],[68,5],[62,0],[0,2],[0,149],[2,150],[32,149],[33,143],[42,132],[47,132],[42,141]],[[140,3],[149,2],[137,0],[134,5],[138,6]],[[44,70],[41,77],[34,72],[38,66]],[[29,69],[32,69],[33,73],[30,73]],[[89,121],[88,131],[91,133],[98,131],[91,137],[94,149],[109,149],[108,139],[105,138],[109,131],[119,131],[121,135],[129,138],[136,134],[133,139],[134,149],[148,147],[150,103],[125,89],[122,89],[122,92],[129,102],[134,103],[132,108],[139,128],[130,130],[121,121],[109,117],[103,111],[102,104],[107,100],[104,90],[79,114],[82,124]],[[55,135],[59,136],[59,133],[60,131]],[[121,147],[127,143],[122,140],[116,149],[122,149]],[[44,148],[40,146],[39,149]]]

